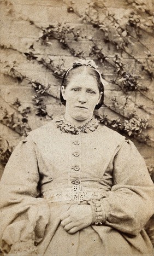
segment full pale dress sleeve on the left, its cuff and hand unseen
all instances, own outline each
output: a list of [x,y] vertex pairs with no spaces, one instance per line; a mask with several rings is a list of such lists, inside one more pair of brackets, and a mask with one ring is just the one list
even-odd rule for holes
[[38,150],[31,136],[11,154],[0,183],[0,241],[4,253],[37,254],[49,207],[39,197]]

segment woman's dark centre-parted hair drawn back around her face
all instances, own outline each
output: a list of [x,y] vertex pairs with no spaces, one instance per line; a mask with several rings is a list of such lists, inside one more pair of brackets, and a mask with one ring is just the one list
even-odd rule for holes
[[[104,102],[104,85],[101,81],[101,77],[100,74],[98,73],[97,69],[90,67],[90,66],[75,66],[73,68],[68,69],[68,71],[66,71],[63,75],[63,79],[62,79],[62,83],[61,83],[61,88],[62,86],[64,86],[64,88],[66,88],[66,86],[68,85],[68,83],[70,82],[70,79],[73,77],[73,75],[75,74],[80,74],[81,72],[83,72],[83,67],[84,67],[84,71],[87,72],[87,74],[92,75],[94,78],[96,78],[97,81],[97,85],[98,85],[98,89],[99,92],[103,92],[102,97],[100,98],[99,103],[96,105],[96,107],[94,109],[99,109]],[[63,96],[62,96],[62,90],[60,92],[60,98],[61,98],[61,102],[64,106],[66,106],[66,100],[64,100]]]

